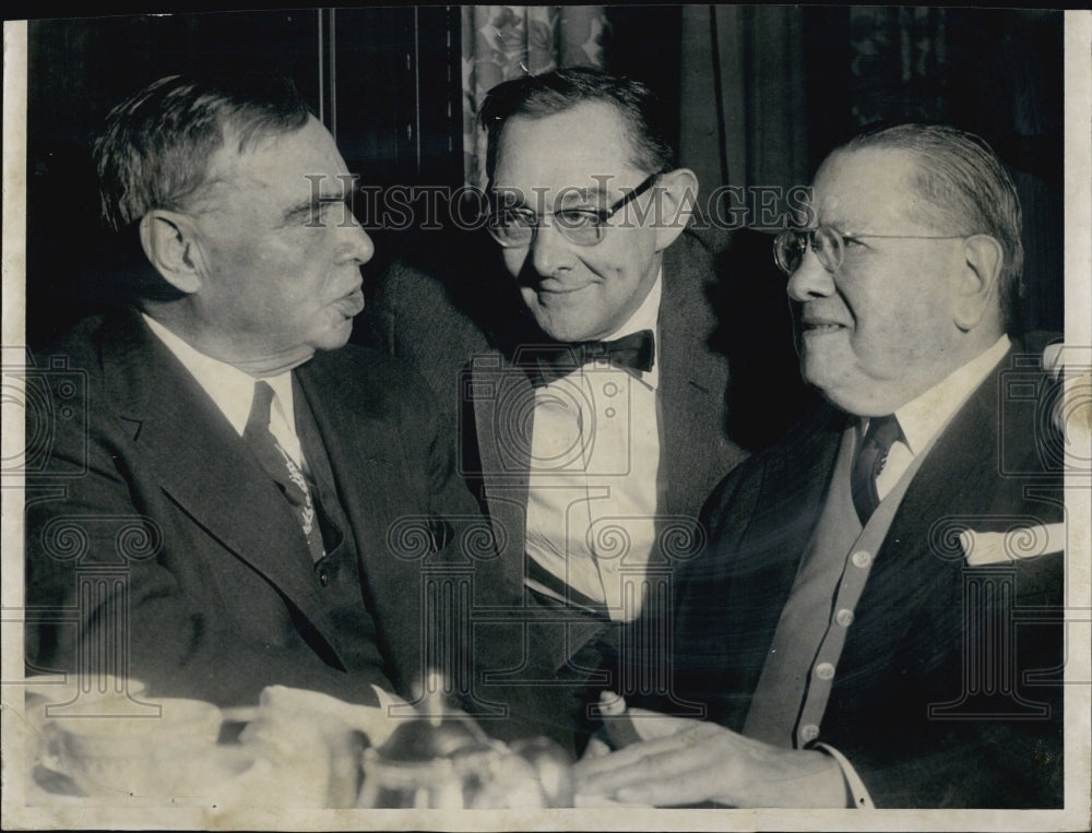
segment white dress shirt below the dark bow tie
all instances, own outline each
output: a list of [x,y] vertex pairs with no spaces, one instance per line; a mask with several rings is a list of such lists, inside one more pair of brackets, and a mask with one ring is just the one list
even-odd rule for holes
[[[656,337],[656,359],[630,373],[606,361],[584,365],[535,391],[527,493],[527,554],[612,619],[640,612],[640,580],[655,545],[660,505],[657,319],[662,274],[622,326]],[[529,586],[557,594],[529,579]]]

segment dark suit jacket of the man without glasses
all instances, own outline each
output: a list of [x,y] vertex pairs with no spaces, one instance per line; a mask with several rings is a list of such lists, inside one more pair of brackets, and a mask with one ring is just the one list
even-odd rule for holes
[[90,319],[39,361],[29,671],[127,674],[222,705],[271,683],[365,703],[369,683],[414,694],[436,635],[423,582],[472,560],[448,544],[480,515],[412,371],[346,347],[295,373],[356,542],[341,562],[312,562],[272,479],[134,311]]

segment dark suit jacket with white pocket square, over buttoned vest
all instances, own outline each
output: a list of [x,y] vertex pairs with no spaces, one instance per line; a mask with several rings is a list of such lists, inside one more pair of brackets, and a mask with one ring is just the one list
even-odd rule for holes
[[[877,807],[1061,802],[1061,554],[970,567],[958,540],[961,528],[1061,520],[1045,383],[1012,360],[1020,353],[923,461],[848,628],[818,741],[846,755]],[[824,408],[737,468],[705,507],[710,547],[678,602],[677,692],[735,730],[847,420]],[[987,662],[997,665],[978,665]]]

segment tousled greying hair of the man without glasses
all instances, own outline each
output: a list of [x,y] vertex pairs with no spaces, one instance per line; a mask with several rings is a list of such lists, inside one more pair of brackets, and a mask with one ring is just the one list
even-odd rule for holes
[[192,206],[228,131],[242,153],[309,115],[295,84],[275,74],[159,79],[110,110],[95,141],[103,221],[121,230],[154,209]]

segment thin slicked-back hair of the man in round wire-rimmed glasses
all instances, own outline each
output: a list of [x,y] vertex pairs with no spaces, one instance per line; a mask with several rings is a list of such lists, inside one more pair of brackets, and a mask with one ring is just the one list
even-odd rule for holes
[[1016,185],[981,138],[945,124],[897,124],[851,139],[841,151],[881,147],[914,154],[911,186],[928,203],[914,218],[938,231],[989,235],[1001,245],[998,298],[1006,322],[1022,290],[1023,216]]

